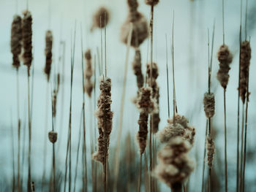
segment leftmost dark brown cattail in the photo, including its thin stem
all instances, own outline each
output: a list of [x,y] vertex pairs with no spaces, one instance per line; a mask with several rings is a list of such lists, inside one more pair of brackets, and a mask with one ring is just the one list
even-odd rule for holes
[[14,15],[11,28],[12,66],[16,69],[16,88],[17,88],[17,118],[18,118],[18,173],[17,173],[17,188],[20,191],[20,98],[19,98],[19,80],[18,68],[20,66],[20,53],[22,47],[22,20],[19,15]]

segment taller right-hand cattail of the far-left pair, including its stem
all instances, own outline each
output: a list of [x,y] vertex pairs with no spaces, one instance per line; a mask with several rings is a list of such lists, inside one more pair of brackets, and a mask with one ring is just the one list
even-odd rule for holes
[[30,91],[29,91],[29,76],[30,76],[30,67],[32,64],[32,17],[29,10],[23,12],[22,19],[22,43],[23,43],[23,64],[27,66],[28,70],[28,118],[29,118],[29,153],[28,153],[28,183],[27,190],[31,191],[31,119],[30,119]]

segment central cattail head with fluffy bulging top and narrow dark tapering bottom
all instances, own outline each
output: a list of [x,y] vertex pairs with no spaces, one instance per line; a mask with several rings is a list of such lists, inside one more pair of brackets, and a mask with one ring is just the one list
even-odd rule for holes
[[156,104],[151,97],[152,88],[141,88],[137,100],[137,107],[140,110],[140,118],[138,120],[139,131],[137,140],[142,155],[146,148],[146,140],[148,136],[148,114],[154,112]]

